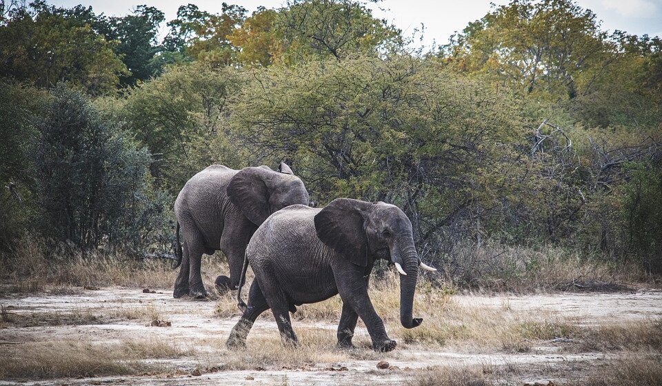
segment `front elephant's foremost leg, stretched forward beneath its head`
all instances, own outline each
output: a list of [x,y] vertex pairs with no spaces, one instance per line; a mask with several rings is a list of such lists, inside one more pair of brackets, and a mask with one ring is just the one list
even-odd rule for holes
[[384,322],[374,310],[368,296],[368,282],[363,278],[363,274],[356,271],[342,272],[336,276],[336,285],[343,300],[343,311],[347,304],[361,317],[365,327],[368,327],[372,348],[381,352],[392,351],[397,343],[388,337]]

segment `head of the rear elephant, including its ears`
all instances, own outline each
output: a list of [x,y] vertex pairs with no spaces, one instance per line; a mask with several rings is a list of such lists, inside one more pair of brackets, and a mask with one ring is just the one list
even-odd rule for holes
[[255,225],[283,207],[310,203],[308,191],[290,167],[281,163],[279,170],[274,172],[268,166],[245,167],[232,177],[226,188],[230,201]]

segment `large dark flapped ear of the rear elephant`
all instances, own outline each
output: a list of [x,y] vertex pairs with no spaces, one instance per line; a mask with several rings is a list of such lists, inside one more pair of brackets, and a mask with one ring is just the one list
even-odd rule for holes
[[265,167],[245,167],[234,174],[225,189],[230,201],[255,225],[261,225],[270,214],[269,190],[265,183],[269,173]]

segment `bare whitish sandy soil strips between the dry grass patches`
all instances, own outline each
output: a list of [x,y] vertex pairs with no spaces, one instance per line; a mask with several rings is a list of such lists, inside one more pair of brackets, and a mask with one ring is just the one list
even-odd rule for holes
[[[659,318],[662,316],[662,292],[639,291],[618,294],[539,294],[531,296],[468,296],[457,295],[454,300],[465,307],[508,307],[521,312],[556,314],[576,321],[576,323],[599,323],[611,320]],[[113,343],[131,338],[154,338],[166,341],[191,341],[208,339],[208,347],[197,347],[200,352],[208,352],[205,365],[222,365],[214,359],[214,353],[225,350],[222,347],[237,316],[219,318],[214,316],[214,301],[191,301],[174,299],[170,292],[146,294],[139,289],[119,287],[101,290],[84,290],[81,294],[56,296],[9,296],[0,298],[0,303],[12,314],[30,316],[35,313],[45,315],[99,314],[109,315],[86,324],[45,323],[46,325],[8,325],[0,329],[0,349],[3,345],[25,342],[52,342],[70,339],[94,339],[96,343]],[[122,314],[157,314],[160,319],[170,321],[172,327],[148,327],[145,317],[127,320]],[[113,317],[114,315],[114,317]],[[261,317],[255,324],[248,344],[259,337],[277,337],[277,327],[270,314]],[[51,325],[49,325],[51,324]],[[335,336],[336,325],[324,322],[294,321],[297,328],[328,329]],[[388,329],[389,327],[387,327]],[[357,336],[365,338],[365,329],[357,329]],[[217,347],[221,346],[221,347]],[[7,347],[7,346],[5,346]],[[369,351],[361,348],[359,350]],[[346,356],[345,356],[346,357]],[[357,356],[361,358],[361,356]],[[369,359],[349,359],[343,362],[314,363],[298,369],[268,368],[242,371],[216,371],[192,376],[191,372],[200,368],[199,358],[177,358],[159,360],[176,373],[158,376],[117,376],[104,378],[59,379],[28,381],[22,385],[365,385],[401,384],[412,378],[415,372],[434,365],[530,365],[568,366],[573,369],[586,369],[605,360],[602,353],[567,354],[558,345],[550,343],[536,347],[532,352],[504,354],[499,352],[459,353],[451,349],[441,351],[417,351],[408,345],[397,347],[388,354],[370,354]],[[379,370],[379,360],[386,360],[391,369]],[[346,367],[346,369],[345,369]],[[173,375],[174,374],[174,375]],[[519,382],[547,384],[548,378],[536,378],[536,372],[523,374]],[[561,377],[563,378],[563,377]],[[0,380],[0,385],[11,382]],[[521,383],[520,383],[521,384]]]

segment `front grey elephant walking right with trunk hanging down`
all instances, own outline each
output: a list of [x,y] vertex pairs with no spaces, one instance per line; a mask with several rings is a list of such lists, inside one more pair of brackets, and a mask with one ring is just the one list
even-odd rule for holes
[[[323,209],[293,205],[272,214],[255,232],[246,250],[255,274],[248,306],[237,298],[243,315],[234,326],[228,347],[242,347],[255,319],[271,309],[285,345],[296,345],[289,312],[297,305],[316,303],[340,294],[343,309],[338,344],[353,347],[359,316],[368,327],[372,346],[388,352],[396,342],[386,335],[384,323],[368,296],[368,276],[377,258],[399,263],[400,321],[412,328],[422,319],[412,318],[419,257],[412,224],[396,206],[336,199]],[[242,278],[247,264],[244,264]]]

